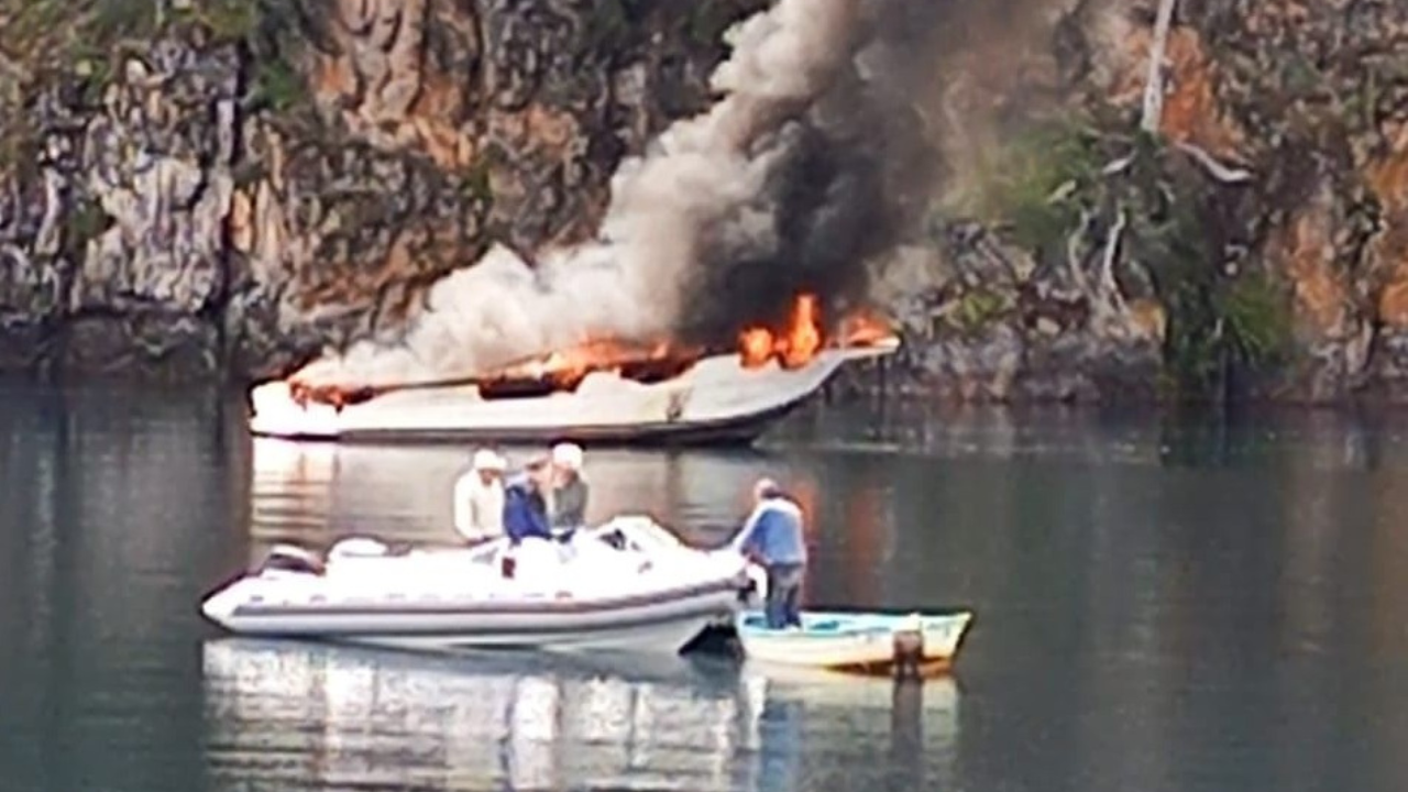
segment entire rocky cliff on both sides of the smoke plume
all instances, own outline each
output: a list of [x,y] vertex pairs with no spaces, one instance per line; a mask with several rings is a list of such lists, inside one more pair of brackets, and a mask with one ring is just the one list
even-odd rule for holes
[[[895,388],[1408,396],[1401,3],[911,4],[897,93],[939,166],[887,149],[928,209],[849,264],[901,323]],[[0,0],[0,369],[396,342],[491,244],[593,237],[767,6]]]

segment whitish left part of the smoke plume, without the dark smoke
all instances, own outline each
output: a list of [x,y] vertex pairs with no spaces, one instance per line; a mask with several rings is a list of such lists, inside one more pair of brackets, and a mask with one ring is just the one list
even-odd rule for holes
[[621,163],[597,241],[545,252],[536,268],[494,247],[435,283],[397,342],[358,342],[296,378],[432,380],[587,338],[667,334],[689,310],[684,286],[705,234],[766,234],[769,223],[756,221],[760,210],[750,203],[786,149],[786,121],[849,62],[857,4],[777,0],[731,30],[732,54],[711,78],[722,99],[673,124],[643,158]]

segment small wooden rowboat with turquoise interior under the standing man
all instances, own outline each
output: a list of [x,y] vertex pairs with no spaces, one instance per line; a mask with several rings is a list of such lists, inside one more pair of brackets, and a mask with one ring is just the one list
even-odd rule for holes
[[803,612],[801,629],[773,630],[762,612],[735,616],[749,661],[852,674],[935,676],[953,667],[973,614]]

